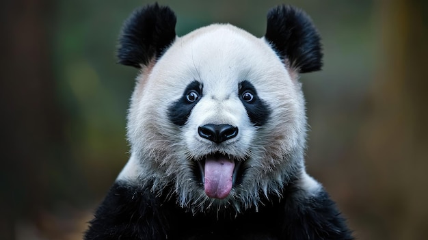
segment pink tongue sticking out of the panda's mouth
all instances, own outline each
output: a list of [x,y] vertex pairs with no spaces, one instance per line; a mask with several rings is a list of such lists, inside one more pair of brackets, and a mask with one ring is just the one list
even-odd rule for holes
[[205,194],[210,198],[226,198],[232,190],[235,162],[225,157],[206,157],[204,181]]

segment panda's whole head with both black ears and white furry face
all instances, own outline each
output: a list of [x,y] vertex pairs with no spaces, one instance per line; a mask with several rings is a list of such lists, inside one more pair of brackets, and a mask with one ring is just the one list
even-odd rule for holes
[[128,117],[131,159],[118,180],[192,211],[257,206],[304,172],[299,72],[321,68],[319,35],[290,6],[256,38],[228,24],[177,37],[170,8],[124,23],[119,62],[140,69]]

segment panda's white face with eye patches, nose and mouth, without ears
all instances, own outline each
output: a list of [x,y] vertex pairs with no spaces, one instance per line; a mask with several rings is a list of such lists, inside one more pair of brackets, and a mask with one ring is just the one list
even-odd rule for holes
[[291,75],[264,38],[231,25],[177,38],[133,94],[139,178],[174,185],[182,205],[200,209],[251,206],[260,189],[280,189],[303,164],[304,99]]

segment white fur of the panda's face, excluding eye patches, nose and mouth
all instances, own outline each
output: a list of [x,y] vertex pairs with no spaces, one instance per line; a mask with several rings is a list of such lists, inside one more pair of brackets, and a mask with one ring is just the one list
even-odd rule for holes
[[[239,100],[238,85],[244,80],[271,110],[263,126],[252,124]],[[168,109],[192,81],[203,84],[203,96],[187,123],[177,126]],[[239,133],[217,145],[198,135],[198,126],[209,123],[237,126]],[[166,194],[192,211],[257,206],[260,192],[280,194],[293,177],[305,176],[300,185],[314,191],[318,186],[304,172],[306,116],[300,83],[263,38],[232,25],[210,25],[176,38],[157,62],[143,66],[127,130],[131,159],[118,180],[152,184],[159,194],[172,185],[173,192]],[[216,151],[245,159],[241,184],[223,200],[208,198],[192,172],[196,159]]]

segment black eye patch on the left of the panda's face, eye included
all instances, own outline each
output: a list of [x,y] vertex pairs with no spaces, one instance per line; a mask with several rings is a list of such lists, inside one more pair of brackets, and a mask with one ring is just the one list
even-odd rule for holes
[[187,85],[183,95],[168,109],[170,121],[178,126],[183,126],[190,116],[191,109],[200,101],[200,98],[202,98],[202,83],[192,81]]

